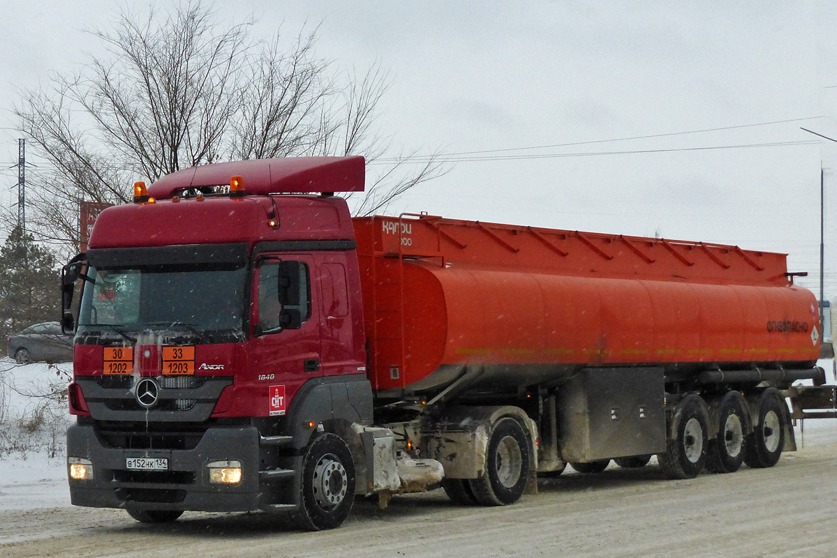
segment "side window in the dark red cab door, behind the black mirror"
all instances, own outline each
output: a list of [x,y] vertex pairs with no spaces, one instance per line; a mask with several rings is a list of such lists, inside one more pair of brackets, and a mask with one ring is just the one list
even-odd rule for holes
[[297,261],[263,260],[259,265],[259,330],[297,330],[311,317],[308,266]]

